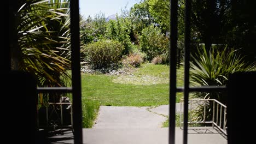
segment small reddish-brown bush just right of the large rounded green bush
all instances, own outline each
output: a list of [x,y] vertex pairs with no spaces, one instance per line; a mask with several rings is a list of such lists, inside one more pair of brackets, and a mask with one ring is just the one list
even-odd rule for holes
[[125,67],[139,67],[141,65],[141,63],[143,63],[143,56],[140,55],[139,53],[133,53],[133,54],[130,54],[129,56],[127,56],[122,64],[125,66]]

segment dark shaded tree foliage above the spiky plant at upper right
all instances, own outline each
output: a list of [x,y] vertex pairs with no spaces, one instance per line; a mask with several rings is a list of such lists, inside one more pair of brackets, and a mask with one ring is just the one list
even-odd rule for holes
[[204,43],[207,50],[212,44],[229,45],[254,62],[256,23],[255,1],[214,0],[193,1],[192,28],[194,38]]

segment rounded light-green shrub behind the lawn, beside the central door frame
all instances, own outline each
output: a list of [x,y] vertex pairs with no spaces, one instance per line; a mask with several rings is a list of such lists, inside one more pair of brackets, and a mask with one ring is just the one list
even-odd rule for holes
[[139,44],[141,51],[147,54],[146,59],[152,61],[152,59],[163,53],[167,53],[168,50],[168,38],[161,33],[161,29],[154,26],[144,28],[139,36]]

